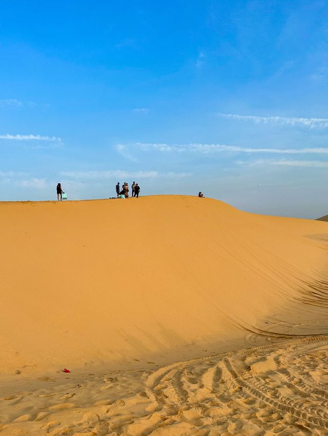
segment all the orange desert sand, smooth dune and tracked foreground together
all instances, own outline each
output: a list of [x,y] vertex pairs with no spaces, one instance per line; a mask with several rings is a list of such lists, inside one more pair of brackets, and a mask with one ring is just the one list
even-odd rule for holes
[[1,435],[328,434],[326,222],[174,195],[0,222]]

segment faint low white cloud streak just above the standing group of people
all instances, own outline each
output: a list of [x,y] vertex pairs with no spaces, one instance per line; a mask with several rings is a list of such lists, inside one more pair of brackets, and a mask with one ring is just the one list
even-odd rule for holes
[[191,172],[158,172],[158,171],[124,171],[120,169],[107,171],[63,171],[63,177],[72,179],[151,179],[151,178],[181,178],[192,176]]

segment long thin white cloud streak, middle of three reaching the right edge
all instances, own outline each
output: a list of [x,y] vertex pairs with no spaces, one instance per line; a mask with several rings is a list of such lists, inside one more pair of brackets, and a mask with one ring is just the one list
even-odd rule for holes
[[273,153],[273,154],[286,154],[286,155],[299,155],[299,154],[328,154],[328,147],[315,147],[315,148],[254,148],[254,147],[240,147],[235,145],[223,144],[161,144],[161,143],[141,143],[137,142],[136,145],[144,151],[157,150],[163,152],[177,151],[177,152],[200,152],[209,154],[217,151],[227,152],[241,152],[241,153]]

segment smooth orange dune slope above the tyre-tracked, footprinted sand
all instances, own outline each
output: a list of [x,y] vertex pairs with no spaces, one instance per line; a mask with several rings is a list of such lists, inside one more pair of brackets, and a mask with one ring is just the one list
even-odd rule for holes
[[2,373],[163,364],[328,326],[326,223],[183,196],[0,210]]

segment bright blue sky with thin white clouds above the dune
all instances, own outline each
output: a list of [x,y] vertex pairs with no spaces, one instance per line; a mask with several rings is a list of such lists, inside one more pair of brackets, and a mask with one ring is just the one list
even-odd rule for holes
[[328,3],[7,2],[0,200],[197,194],[328,213]]

